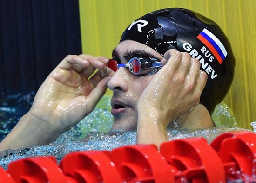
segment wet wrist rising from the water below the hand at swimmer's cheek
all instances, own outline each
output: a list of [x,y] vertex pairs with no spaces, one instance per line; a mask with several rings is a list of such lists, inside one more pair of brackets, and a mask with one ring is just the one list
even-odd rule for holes
[[137,143],[155,144],[158,147],[168,140],[164,119],[154,111],[138,112]]

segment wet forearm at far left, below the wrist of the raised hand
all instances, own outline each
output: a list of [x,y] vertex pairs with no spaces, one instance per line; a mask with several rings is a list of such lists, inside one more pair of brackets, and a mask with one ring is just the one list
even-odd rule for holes
[[25,114],[13,130],[0,142],[0,151],[19,149],[32,145],[45,145],[58,138],[46,121],[31,113]]

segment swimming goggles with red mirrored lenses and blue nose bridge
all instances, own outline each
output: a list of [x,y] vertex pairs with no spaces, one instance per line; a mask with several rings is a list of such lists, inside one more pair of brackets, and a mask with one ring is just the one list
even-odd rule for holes
[[128,63],[118,64],[113,58],[108,60],[107,67],[114,72],[120,67],[127,67],[135,75],[151,75],[162,68],[161,62],[151,57],[133,57]]

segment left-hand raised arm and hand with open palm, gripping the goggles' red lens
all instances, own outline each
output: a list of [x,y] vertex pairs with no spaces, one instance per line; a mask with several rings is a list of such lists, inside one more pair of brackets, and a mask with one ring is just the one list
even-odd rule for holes
[[0,150],[45,145],[92,112],[110,79],[107,61],[89,55],[65,57],[39,88],[30,111],[1,142]]

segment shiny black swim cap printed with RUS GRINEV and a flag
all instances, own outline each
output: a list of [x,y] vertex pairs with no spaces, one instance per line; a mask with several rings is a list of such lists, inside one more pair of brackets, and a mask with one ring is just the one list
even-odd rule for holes
[[148,13],[127,27],[120,42],[124,40],[146,44],[162,56],[174,48],[197,58],[208,75],[200,102],[210,114],[229,91],[236,64],[229,40],[214,21],[199,13],[182,8]]

